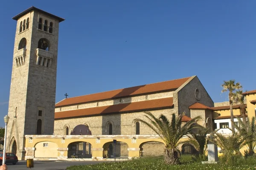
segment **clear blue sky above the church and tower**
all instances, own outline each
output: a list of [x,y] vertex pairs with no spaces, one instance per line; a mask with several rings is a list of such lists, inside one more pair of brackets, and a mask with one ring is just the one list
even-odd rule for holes
[[[4,0],[0,5],[0,126],[8,112],[16,21],[35,6],[63,17],[56,102],[197,75],[214,102],[223,80],[256,89],[255,0]],[[127,42],[126,42],[127,41]]]

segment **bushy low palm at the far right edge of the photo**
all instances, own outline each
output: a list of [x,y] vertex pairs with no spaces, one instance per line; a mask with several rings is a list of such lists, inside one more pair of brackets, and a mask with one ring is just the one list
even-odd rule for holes
[[239,132],[241,139],[245,141],[248,149],[247,156],[253,156],[256,149],[256,120],[252,117],[249,121],[243,122],[237,118],[239,124],[232,122],[236,130]]

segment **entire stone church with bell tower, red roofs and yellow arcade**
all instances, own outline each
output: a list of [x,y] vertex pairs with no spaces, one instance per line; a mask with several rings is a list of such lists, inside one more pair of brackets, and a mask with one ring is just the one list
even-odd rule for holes
[[[58,31],[63,18],[34,6],[17,21],[7,125],[7,152],[19,160],[130,159],[163,155],[164,142],[146,125],[144,112],[172,113],[183,122],[201,116],[209,131],[230,133],[229,104],[214,103],[197,76],[155,82],[55,103]],[[170,77],[172,79],[172,77]],[[244,93],[247,117],[255,116],[256,90]],[[240,104],[233,106],[241,116]],[[187,140],[186,138],[182,140]],[[115,143],[113,143],[115,141]],[[115,144],[115,145],[114,145]],[[116,153],[113,154],[113,146]],[[180,146],[191,153],[192,146]]]

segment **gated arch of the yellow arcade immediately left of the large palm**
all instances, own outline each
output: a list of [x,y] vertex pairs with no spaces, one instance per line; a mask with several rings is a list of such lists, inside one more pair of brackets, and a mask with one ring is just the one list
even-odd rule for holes
[[140,144],[140,156],[163,156],[165,145],[162,142]]

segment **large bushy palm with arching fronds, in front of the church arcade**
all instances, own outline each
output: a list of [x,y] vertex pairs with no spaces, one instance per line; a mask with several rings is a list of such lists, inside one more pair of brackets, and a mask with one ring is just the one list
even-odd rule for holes
[[184,115],[180,114],[176,117],[175,113],[172,114],[172,120],[161,114],[158,118],[155,117],[151,112],[144,112],[147,120],[134,119],[134,122],[140,121],[150,127],[157,133],[161,139],[165,142],[164,160],[166,164],[180,164],[180,152],[177,149],[179,144],[190,143],[196,144],[195,140],[179,141],[183,136],[188,135],[194,128],[198,127],[196,122],[201,119],[197,116],[186,122],[181,127],[181,118]]

